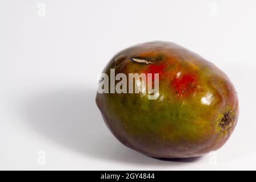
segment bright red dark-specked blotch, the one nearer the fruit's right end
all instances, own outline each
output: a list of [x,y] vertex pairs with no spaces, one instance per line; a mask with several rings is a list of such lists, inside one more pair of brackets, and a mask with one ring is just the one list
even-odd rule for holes
[[171,86],[173,86],[175,94],[177,96],[189,96],[195,91],[198,85],[198,78],[196,75],[187,73],[185,75],[177,75]]

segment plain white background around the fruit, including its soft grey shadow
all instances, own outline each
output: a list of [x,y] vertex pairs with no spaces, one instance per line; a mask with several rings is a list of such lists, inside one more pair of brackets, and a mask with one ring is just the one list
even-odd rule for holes
[[[1,1],[0,169],[256,169],[255,18],[253,0]],[[115,53],[151,40],[188,48],[233,81],[239,121],[215,154],[149,158],[103,123],[97,76]]]

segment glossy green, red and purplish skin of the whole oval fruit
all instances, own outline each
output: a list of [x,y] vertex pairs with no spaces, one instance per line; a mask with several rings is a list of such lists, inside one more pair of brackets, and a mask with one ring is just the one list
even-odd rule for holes
[[[143,59],[154,64],[137,63]],[[219,68],[169,42],[148,42],[115,55],[103,73],[159,73],[159,97],[97,93],[96,103],[115,137],[155,158],[189,158],[218,150],[238,119],[237,92]]]

